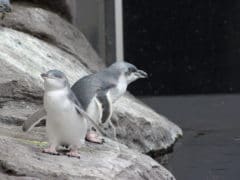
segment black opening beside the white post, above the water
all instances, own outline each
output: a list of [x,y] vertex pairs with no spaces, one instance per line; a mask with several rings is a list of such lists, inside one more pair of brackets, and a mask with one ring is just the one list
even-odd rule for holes
[[135,95],[240,92],[240,2],[123,0],[125,60],[145,69]]

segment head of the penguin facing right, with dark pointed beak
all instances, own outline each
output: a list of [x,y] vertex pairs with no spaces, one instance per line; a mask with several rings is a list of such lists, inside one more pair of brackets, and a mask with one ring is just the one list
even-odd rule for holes
[[126,78],[128,84],[136,81],[137,79],[148,77],[148,74],[145,71],[140,70],[133,64],[127,62],[116,62],[109,68],[123,75]]

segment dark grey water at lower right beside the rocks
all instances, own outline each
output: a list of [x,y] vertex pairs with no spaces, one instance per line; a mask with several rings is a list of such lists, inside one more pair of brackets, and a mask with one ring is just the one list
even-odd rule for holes
[[240,95],[142,100],[184,131],[165,164],[177,180],[240,179]]

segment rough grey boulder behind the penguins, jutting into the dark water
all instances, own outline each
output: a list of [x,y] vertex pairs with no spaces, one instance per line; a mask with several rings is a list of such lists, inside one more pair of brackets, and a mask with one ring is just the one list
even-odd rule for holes
[[114,108],[112,122],[118,139],[130,148],[145,153],[167,149],[182,135],[178,126],[131,95],[121,98]]

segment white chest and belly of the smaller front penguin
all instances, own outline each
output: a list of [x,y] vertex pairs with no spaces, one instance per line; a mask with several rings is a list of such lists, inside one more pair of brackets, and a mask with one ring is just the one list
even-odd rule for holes
[[44,107],[47,112],[46,127],[49,139],[68,144],[76,144],[84,139],[87,122],[78,115],[66,90],[45,93]]

